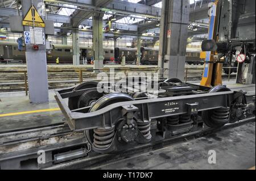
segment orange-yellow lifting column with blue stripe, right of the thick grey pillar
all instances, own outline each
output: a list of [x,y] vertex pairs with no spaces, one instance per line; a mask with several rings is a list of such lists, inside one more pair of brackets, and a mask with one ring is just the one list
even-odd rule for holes
[[[209,30],[208,30],[208,40],[218,41],[218,22],[220,15],[220,1],[215,1],[210,7],[209,14]],[[203,44],[202,44],[203,50]],[[214,62],[215,51],[204,52],[205,53],[205,64],[204,64],[204,73],[201,79],[200,85],[212,87],[217,85],[222,85],[222,63]]]

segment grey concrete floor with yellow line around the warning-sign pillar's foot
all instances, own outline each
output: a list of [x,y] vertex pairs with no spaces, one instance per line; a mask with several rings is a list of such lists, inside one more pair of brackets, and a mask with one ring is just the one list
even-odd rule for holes
[[[0,115],[59,107],[54,98],[53,91],[49,92],[49,102],[44,104],[31,104],[28,96],[15,96],[13,93],[11,93],[12,96],[8,97],[7,94],[3,95],[2,97],[0,95]],[[0,117],[0,133],[57,124],[61,123],[63,119],[64,116],[61,111],[37,112]]]

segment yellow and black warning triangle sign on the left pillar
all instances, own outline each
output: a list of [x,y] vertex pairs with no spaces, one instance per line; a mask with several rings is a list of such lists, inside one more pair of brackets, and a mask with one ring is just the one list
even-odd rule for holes
[[30,10],[27,11],[26,16],[22,21],[23,26],[35,26],[35,27],[45,27],[44,20],[39,15],[38,11],[36,10],[35,6],[32,5]]

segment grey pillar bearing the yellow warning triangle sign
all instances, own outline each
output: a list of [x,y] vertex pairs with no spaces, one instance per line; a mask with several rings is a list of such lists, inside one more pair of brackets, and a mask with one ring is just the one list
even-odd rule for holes
[[[40,5],[39,3],[42,4],[42,0],[33,1],[33,5],[38,10],[38,12],[40,12],[40,7],[38,7],[38,5]],[[23,18],[31,6],[31,0],[22,1]],[[24,26],[24,31],[30,31],[30,27]],[[39,50],[34,50],[32,48],[32,44],[26,45],[26,61],[30,102],[48,102],[46,45],[39,45]]]

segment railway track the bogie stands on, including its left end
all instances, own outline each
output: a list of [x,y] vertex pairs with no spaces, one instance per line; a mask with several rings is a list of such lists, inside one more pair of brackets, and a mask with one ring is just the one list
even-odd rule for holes
[[[38,128],[17,129],[0,133],[0,165],[1,169],[100,169],[101,166],[114,164],[123,159],[133,157],[135,154],[148,153],[249,123],[254,123],[255,125],[255,116],[236,123],[226,124],[221,128],[205,127],[200,131],[180,134],[179,136],[151,142],[150,144],[138,145],[114,154],[98,154],[95,152],[90,153],[89,151],[83,157],[72,159],[71,161],[56,163],[54,159],[51,159],[51,161],[39,167],[26,166],[26,161],[37,161],[39,149],[45,149],[47,153],[51,152],[52,158],[54,158],[53,155],[58,153],[60,149],[72,149],[88,144],[84,133],[72,132],[65,125],[65,122]],[[14,167],[6,167],[6,163],[8,165],[10,161],[15,163]]]

